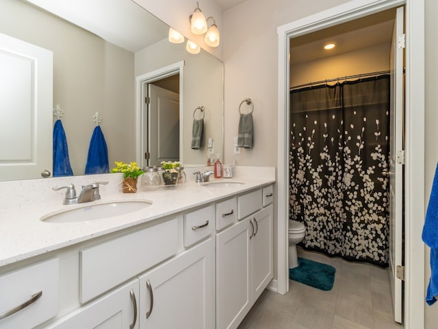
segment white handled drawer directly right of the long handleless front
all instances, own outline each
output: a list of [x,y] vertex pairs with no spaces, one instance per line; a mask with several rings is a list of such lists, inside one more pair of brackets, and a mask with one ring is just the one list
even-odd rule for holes
[[184,215],[184,247],[188,247],[213,232],[213,205],[201,208]]

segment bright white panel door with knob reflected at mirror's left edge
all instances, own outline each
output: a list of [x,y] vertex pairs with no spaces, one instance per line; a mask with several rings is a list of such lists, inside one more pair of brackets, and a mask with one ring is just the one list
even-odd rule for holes
[[52,171],[53,53],[0,34],[0,180]]

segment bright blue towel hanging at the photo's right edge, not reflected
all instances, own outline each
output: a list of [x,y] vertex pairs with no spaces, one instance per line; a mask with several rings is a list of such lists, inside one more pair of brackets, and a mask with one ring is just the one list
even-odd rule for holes
[[430,247],[430,274],[426,303],[432,305],[438,297],[438,164],[430,191],[422,239]]

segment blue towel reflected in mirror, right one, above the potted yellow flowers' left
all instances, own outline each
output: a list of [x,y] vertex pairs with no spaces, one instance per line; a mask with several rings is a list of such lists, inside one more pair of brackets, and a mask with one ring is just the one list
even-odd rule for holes
[[88,149],[88,160],[85,167],[85,173],[109,173],[110,164],[108,164],[107,143],[101,127],[97,125],[91,136],[90,148]]

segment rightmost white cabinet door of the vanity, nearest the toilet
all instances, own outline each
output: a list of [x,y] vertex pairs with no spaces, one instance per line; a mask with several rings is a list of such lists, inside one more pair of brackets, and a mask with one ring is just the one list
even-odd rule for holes
[[274,274],[272,243],[272,205],[250,217],[255,231],[251,239],[251,287],[253,303],[268,286]]

